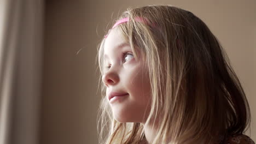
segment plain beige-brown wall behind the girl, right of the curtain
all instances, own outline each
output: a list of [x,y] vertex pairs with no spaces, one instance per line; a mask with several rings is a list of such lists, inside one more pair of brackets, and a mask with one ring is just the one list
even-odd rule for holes
[[[226,49],[252,109],[256,140],[256,1],[46,1],[40,143],[97,143],[100,100],[96,46],[105,27],[127,7],[172,4],[192,11]],[[78,52],[79,51],[79,52]]]

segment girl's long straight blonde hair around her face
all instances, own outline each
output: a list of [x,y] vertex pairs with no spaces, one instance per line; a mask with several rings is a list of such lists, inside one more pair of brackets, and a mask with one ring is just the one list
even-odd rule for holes
[[[118,20],[124,17],[130,20],[117,28],[135,58],[143,53],[149,71],[147,123],[161,117],[153,143],[212,143],[219,135],[245,132],[251,121],[245,92],[218,39],[199,17],[170,5],[129,8]],[[104,40],[98,47],[101,75]],[[101,89],[100,143],[145,140],[141,123],[115,121],[103,82]]]

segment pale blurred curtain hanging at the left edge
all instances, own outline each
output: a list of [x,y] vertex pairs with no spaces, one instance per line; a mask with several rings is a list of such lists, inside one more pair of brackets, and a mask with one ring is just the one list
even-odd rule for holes
[[43,7],[0,1],[0,144],[39,143]]

